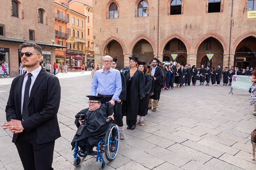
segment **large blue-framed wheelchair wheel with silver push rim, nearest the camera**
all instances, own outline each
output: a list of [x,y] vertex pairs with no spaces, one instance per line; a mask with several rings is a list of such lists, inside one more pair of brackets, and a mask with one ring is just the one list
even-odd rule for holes
[[[114,151],[111,152],[111,144],[116,145]],[[115,124],[111,124],[105,137],[105,156],[108,161],[112,161],[117,154],[119,145],[119,132]]]

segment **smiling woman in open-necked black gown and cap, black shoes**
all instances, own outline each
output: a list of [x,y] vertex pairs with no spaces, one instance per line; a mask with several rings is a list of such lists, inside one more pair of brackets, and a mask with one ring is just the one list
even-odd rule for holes
[[137,57],[129,57],[131,69],[124,72],[126,80],[126,100],[124,115],[126,116],[127,129],[135,129],[139,99],[146,96],[145,80],[143,73],[137,69]]

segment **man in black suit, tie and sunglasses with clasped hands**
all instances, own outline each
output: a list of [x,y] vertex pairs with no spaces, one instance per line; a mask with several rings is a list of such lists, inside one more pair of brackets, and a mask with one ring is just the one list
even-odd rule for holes
[[40,46],[23,43],[20,49],[27,71],[12,82],[5,109],[7,122],[2,126],[14,133],[12,142],[25,170],[50,170],[54,143],[61,136],[57,120],[60,83],[39,65]]

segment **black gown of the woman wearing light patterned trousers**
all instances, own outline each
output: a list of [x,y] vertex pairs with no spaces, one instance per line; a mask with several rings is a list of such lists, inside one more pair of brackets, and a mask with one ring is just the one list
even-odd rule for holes
[[138,115],[145,116],[148,112],[148,102],[149,102],[149,95],[152,86],[152,77],[148,73],[144,73],[144,80],[145,80],[145,92],[146,96],[139,100],[139,109]]

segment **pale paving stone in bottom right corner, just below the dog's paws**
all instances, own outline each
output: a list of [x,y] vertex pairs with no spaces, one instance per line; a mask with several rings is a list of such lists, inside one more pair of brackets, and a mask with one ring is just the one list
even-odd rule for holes
[[255,170],[255,163],[248,162],[228,153],[225,153],[219,159],[242,169]]

